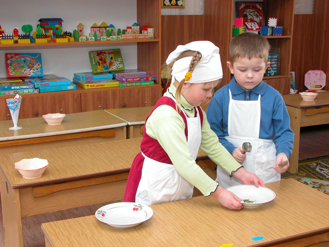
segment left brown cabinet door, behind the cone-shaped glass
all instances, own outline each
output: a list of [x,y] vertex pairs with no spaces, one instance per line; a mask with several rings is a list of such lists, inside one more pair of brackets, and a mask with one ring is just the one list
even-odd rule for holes
[[[0,120],[11,120],[6,99],[0,99]],[[48,113],[81,112],[80,93],[63,95],[22,96],[19,118],[42,117]]]

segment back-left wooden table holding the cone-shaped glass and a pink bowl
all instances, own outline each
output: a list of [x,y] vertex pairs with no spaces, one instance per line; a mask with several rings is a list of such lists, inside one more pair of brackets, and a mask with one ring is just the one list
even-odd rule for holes
[[18,119],[20,130],[9,130],[13,121],[0,121],[0,147],[52,142],[83,137],[126,139],[127,122],[106,111],[66,114],[60,125],[48,125],[43,117]]

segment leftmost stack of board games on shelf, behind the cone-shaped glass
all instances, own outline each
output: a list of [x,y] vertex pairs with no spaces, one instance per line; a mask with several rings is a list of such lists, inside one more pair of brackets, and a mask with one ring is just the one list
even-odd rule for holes
[[20,78],[0,78],[0,95],[35,94],[39,90]]

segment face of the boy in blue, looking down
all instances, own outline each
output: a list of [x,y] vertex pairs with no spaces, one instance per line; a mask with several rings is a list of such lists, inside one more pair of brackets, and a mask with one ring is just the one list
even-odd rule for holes
[[266,68],[270,62],[265,63],[261,58],[237,58],[234,63],[227,62],[236,82],[245,90],[251,90],[259,85],[263,79]]

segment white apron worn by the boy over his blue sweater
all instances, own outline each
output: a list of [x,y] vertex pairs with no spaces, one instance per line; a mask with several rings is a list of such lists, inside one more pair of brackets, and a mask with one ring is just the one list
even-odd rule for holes
[[[281,176],[273,167],[276,162],[276,149],[273,140],[259,138],[261,122],[261,95],[256,101],[233,100],[229,90],[228,105],[228,136],[226,140],[236,147],[242,147],[243,142],[252,144],[252,151],[246,152],[242,163],[245,170],[256,174],[264,183],[279,181]],[[222,168],[217,167],[217,182],[223,188],[242,184],[230,177]]]

